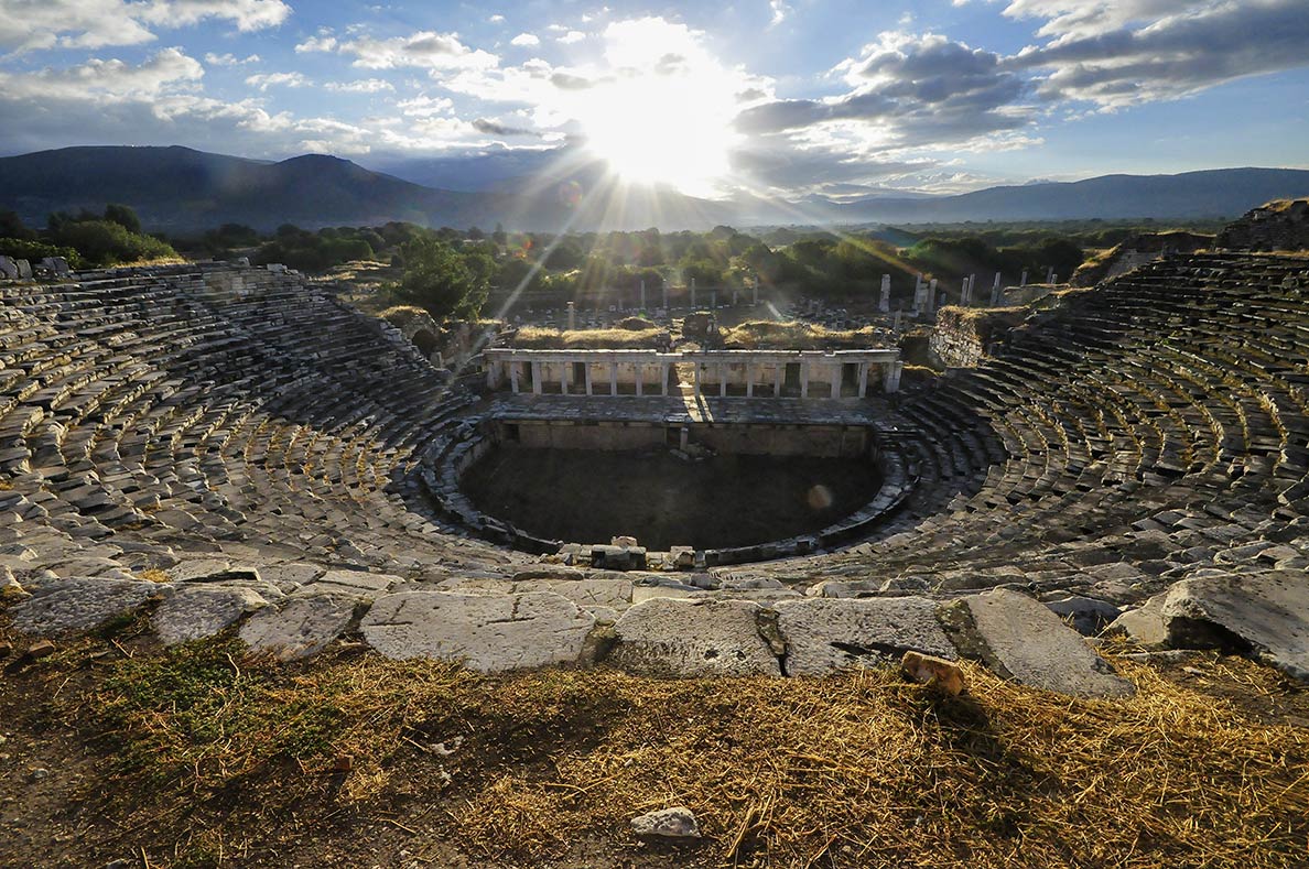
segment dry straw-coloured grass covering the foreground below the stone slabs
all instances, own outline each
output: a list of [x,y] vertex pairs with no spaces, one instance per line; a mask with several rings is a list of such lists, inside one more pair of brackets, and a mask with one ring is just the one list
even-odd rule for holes
[[[386,848],[446,865],[436,855],[450,847],[487,865],[560,866],[1309,856],[1309,699],[1236,658],[1198,658],[1194,673],[1124,661],[1140,688],[1126,701],[966,666],[970,695],[946,700],[891,669],[487,678],[361,650],[285,667],[232,640],[140,643],[92,639],[10,670],[0,715],[33,732],[63,722],[96,746],[77,800],[110,822],[86,842],[144,847],[154,866],[391,865]],[[668,805],[696,813],[703,843],[669,856],[631,840],[628,818]],[[389,836],[360,835],[378,819]],[[609,857],[571,857],[580,842]],[[332,849],[342,862],[323,857]]]

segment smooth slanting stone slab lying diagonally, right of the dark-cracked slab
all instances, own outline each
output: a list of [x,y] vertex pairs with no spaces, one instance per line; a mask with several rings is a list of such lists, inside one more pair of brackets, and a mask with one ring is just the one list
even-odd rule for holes
[[971,594],[941,607],[940,616],[961,656],[1007,679],[1080,698],[1124,698],[1136,691],[1080,633],[1020,592]]

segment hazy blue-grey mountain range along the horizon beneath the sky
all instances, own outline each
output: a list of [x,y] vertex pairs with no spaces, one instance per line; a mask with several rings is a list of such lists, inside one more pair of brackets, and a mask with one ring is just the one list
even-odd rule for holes
[[1223,219],[1270,199],[1309,195],[1309,170],[1247,168],[1102,175],[949,196],[708,200],[669,187],[627,187],[594,161],[556,165],[541,154],[548,152],[393,160],[386,164],[389,171],[381,173],[325,154],[272,162],[181,147],[60,148],[0,158],[0,208],[39,226],[54,211],[99,211],[106,203],[123,203],[136,209],[148,229],[169,233],[224,222],[268,230],[285,222],[313,229],[391,220],[551,232],[707,229],[719,224]]

